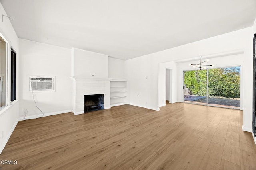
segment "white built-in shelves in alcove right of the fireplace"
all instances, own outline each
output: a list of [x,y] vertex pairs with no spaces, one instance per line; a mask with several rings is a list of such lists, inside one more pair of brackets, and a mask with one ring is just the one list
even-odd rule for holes
[[127,104],[127,80],[111,80],[110,89],[110,106]]

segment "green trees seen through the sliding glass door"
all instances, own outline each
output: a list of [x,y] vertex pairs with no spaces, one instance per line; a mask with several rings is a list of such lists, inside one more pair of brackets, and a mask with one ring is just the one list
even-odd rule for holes
[[[240,98],[240,67],[208,70],[209,96]],[[207,70],[184,72],[184,84],[191,95],[206,96]]]

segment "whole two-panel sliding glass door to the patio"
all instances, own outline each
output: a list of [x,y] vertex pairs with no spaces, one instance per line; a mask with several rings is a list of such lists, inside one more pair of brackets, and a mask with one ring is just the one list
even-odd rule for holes
[[184,71],[184,102],[240,108],[240,67]]

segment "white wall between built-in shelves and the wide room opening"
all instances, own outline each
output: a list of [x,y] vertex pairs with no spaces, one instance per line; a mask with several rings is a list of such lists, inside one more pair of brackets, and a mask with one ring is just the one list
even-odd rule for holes
[[128,104],[158,110],[158,63],[154,63],[151,56],[126,60],[125,76]]

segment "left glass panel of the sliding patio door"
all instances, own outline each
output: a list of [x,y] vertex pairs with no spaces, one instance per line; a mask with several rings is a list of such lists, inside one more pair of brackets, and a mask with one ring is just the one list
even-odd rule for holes
[[207,104],[207,70],[184,71],[184,102]]

